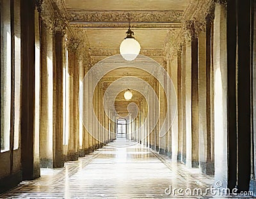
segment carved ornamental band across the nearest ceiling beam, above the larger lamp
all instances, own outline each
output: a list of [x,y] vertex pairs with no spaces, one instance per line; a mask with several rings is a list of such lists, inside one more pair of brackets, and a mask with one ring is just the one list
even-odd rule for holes
[[68,10],[70,22],[180,22],[183,11],[163,12],[84,12]]

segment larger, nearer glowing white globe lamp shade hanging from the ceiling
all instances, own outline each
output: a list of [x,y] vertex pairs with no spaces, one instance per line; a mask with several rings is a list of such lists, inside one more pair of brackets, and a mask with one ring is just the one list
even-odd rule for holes
[[135,60],[140,54],[140,43],[135,38],[125,38],[120,45],[120,54],[127,61]]

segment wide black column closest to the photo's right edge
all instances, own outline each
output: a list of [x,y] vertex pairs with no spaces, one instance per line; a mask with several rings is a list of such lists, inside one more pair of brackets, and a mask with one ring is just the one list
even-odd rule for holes
[[[252,170],[252,8],[254,2],[255,1],[237,1],[236,9],[237,188],[239,191],[248,191]],[[230,74],[228,73],[228,78],[229,77]]]

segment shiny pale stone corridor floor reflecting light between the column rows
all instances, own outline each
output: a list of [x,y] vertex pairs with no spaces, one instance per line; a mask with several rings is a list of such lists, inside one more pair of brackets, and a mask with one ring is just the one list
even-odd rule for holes
[[[0,198],[212,198],[210,193],[193,195],[193,190],[205,193],[214,184],[212,176],[124,139],[65,163],[64,168],[41,172],[39,179],[24,181]],[[166,195],[170,188],[172,193]],[[188,194],[179,195],[175,188],[188,189]]]

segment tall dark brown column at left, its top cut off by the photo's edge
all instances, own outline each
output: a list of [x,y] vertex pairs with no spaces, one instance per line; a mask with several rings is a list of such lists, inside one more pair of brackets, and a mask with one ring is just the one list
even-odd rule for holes
[[40,161],[34,156],[35,131],[35,1],[21,1],[21,163],[22,180],[40,177]]

